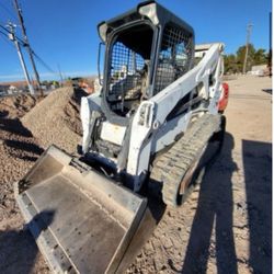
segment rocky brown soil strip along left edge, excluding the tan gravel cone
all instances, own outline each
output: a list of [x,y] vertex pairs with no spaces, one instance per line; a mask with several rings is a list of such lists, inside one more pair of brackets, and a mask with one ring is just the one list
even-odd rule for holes
[[0,99],[0,272],[43,273],[47,270],[37,247],[23,229],[23,219],[13,196],[13,182],[20,180],[43,152],[20,117],[37,100],[30,95]]

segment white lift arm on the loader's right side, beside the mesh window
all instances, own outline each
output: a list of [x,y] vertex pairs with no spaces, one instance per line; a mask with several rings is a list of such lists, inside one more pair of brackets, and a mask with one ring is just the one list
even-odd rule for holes
[[[221,91],[222,49],[222,44],[212,44],[196,67],[168,85],[151,100],[141,103],[133,121],[132,149],[129,150],[127,164],[129,173],[135,174],[137,178],[145,174],[149,165],[150,151],[157,152],[161,150],[164,146],[173,142],[182,130],[186,129],[192,116],[191,105],[184,118],[176,121],[180,126],[176,126],[174,130],[170,130],[168,135],[161,135],[168,115],[178,102],[194,89],[199,88],[198,98],[208,101],[209,113],[216,114],[218,112],[217,103]],[[209,83],[209,77],[214,78],[214,84]],[[144,119],[144,113],[145,121],[149,123],[140,123]],[[149,134],[155,137],[148,139]],[[136,189],[139,189],[138,186],[140,186],[140,183],[137,183]]]

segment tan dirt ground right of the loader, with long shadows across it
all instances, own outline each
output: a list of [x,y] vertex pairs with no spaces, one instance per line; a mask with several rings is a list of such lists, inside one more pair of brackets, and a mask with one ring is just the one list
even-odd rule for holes
[[272,273],[271,79],[228,83],[220,156],[185,205],[165,210],[128,273]]

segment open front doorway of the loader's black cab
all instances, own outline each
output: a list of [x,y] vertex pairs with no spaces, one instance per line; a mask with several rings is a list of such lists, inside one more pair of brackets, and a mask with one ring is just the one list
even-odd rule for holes
[[117,115],[129,117],[149,96],[152,39],[149,23],[134,24],[112,37],[105,92],[107,104]]

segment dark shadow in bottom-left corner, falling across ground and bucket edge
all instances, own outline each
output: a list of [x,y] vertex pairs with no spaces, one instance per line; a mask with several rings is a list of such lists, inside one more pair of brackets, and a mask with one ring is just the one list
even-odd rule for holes
[[[54,210],[42,212],[25,225],[33,228],[32,236],[35,240],[53,222],[54,215]],[[37,221],[39,225],[43,221],[41,229],[35,226]],[[32,236],[27,229],[0,231],[0,273],[33,273],[38,248]]]

